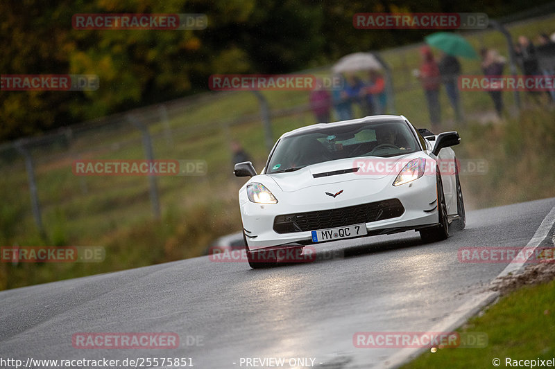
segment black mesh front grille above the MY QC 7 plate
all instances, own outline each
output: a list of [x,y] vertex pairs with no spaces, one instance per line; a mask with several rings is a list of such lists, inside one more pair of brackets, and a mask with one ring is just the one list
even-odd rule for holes
[[403,213],[404,208],[401,201],[389,199],[346,208],[278,215],[273,221],[273,230],[277,233],[316,231],[317,229],[376,222],[400,217]]

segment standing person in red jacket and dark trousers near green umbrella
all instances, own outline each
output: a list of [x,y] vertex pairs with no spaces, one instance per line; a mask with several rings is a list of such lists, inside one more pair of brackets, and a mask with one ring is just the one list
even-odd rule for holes
[[420,48],[420,56],[422,57],[422,64],[420,64],[420,70],[417,76],[426,94],[429,120],[432,123],[432,129],[436,129],[441,122],[441,109],[439,106],[441,76],[431,48],[422,46],[422,48]]

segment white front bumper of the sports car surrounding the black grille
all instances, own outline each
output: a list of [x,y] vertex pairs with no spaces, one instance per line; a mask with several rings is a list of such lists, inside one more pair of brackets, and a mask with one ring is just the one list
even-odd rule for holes
[[[392,182],[393,179],[388,176],[384,179],[357,179],[311,186],[296,192],[282,192],[278,196],[278,204],[271,205],[255,204],[248,200],[245,191],[241,191],[239,203],[248,248],[252,251],[290,243],[311,243],[311,231],[317,229],[277,233],[274,220],[278,215],[346,208],[391,199],[401,202],[404,213],[390,219],[367,222],[369,234],[391,228],[408,230],[438,223],[435,176],[425,175],[401,186],[392,186]],[[325,192],[341,189],[343,193],[336,198],[325,195]],[[273,192],[274,195],[276,192]]]

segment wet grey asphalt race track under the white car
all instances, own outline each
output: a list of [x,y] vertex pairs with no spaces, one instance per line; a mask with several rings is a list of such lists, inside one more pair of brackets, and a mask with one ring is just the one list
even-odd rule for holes
[[[464,231],[432,244],[415,232],[321,244],[308,264],[254,270],[201,257],[3,291],[0,358],[190,357],[195,368],[246,368],[241,357],[282,357],[381,367],[396,349],[355,348],[356,332],[429,330],[506,267],[459,262],[459,248],[525,246],[554,206],[552,198],[472,211]],[[180,347],[76,349],[76,332],[175,332]]]

